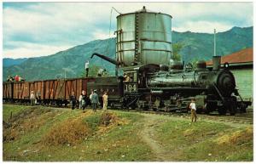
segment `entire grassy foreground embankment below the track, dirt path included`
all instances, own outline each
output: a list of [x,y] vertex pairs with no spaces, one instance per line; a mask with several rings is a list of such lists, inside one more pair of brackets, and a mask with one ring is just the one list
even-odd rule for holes
[[4,161],[253,161],[253,125],[201,116],[3,105],[3,139]]

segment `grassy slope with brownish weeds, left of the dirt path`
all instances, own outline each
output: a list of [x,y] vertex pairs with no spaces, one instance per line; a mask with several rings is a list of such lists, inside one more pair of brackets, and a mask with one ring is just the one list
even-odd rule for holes
[[[20,106],[20,110],[23,108]],[[3,110],[6,109],[9,108],[3,105]],[[30,110],[29,107],[26,110]],[[38,110],[44,110],[44,107],[38,107]],[[44,118],[45,122],[40,127],[22,129],[22,133],[20,127],[15,128],[19,137],[3,142],[4,161],[143,161],[152,156],[148,146],[137,139],[139,129],[133,127],[133,123],[142,116],[111,112],[119,118],[119,122],[108,123],[109,125],[106,126],[102,124],[102,111],[97,111],[94,115],[90,111],[84,114],[81,110],[51,108],[50,110],[49,113],[55,113],[55,115],[46,119],[46,115],[49,114],[43,113],[34,120],[34,123],[38,124],[37,122]],[[30,119],[31,116],[24,118],[22,122]],[[74,122],[75,120],[81,122]],[[15,122],[21,121],[18,119]],[[78,134],[75,129],[87,132],[87,129],[83,129],[83,125],[90,131],[86,135],[82,133],[81,137],[77,138],[79,142],[68,140],[74,137],[71,133]],[[66,142],[58,142],[65,140],[65,135],[68,138]]]

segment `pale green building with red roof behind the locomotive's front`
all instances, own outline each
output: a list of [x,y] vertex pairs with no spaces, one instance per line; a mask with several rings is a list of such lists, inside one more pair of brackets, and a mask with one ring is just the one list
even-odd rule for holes
[[[243,99],[253,99],[253,48],[245,48],[221,57],[221,66],[229,63],[230,71],[236,78],[236,88]],[[207,61],[212,67],[212,60]]]

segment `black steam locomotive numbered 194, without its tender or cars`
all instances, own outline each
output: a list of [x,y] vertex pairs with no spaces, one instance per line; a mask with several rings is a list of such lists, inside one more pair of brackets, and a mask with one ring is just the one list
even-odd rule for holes
[[[102,54],[93,54],[114,65],[119,62]],[[228,64],[220,69],[220,57],[213,57],[212,70],[205,61],[196,63],[196,68],[181,62],[168,65],[134,65],[124,68],[129,80],[116,80],[116,86],[123,86],[123,95],[112,105],[126,108],[152,110],[188,110],[189,101],[195,98],[198,112],[209,113],[218,110],[224,115],[246,112],[251,102],[243,101],[236,89],[236,80],[229,71]],[[121,84],[120,84],[121,83]],[[97,83],[94,82],[94,86]],[[102,86],[102,82],[100,83]],[[119,101],[119,102],[118,102]]]

